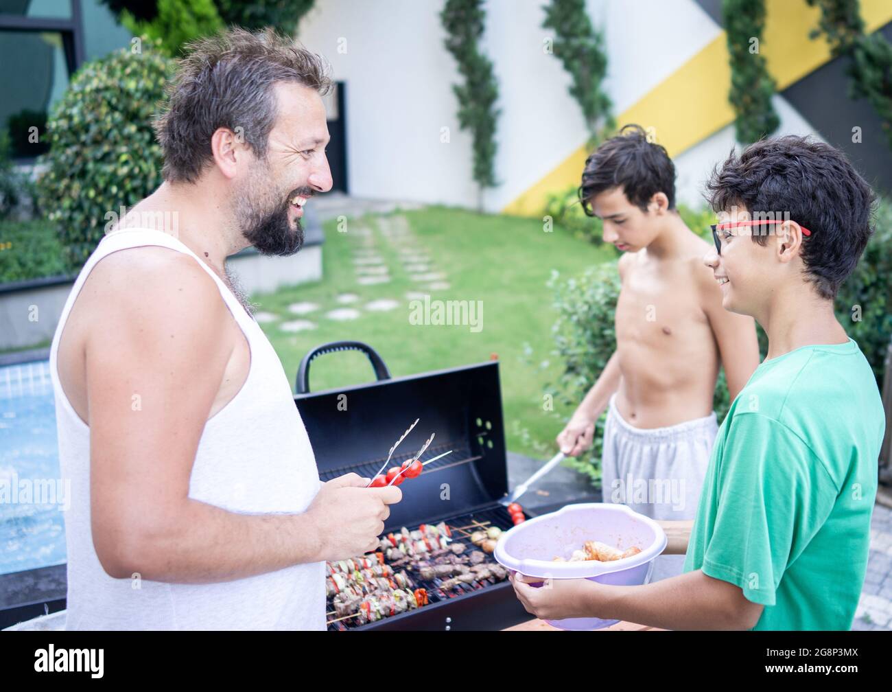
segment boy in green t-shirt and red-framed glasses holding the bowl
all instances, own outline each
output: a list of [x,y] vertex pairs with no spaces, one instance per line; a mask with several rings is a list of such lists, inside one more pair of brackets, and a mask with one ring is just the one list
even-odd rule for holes
[[704,262],[725,309],[763,326],[768,354],[719,430],[693,526],[661,522],[684,573],[638,587],[515,575],[514,587],[548,620],[850,629],[886,425],[833,300],[871,236],[874,196],[837,149],[793,136],[731,154],[707,190],[721,222]]

